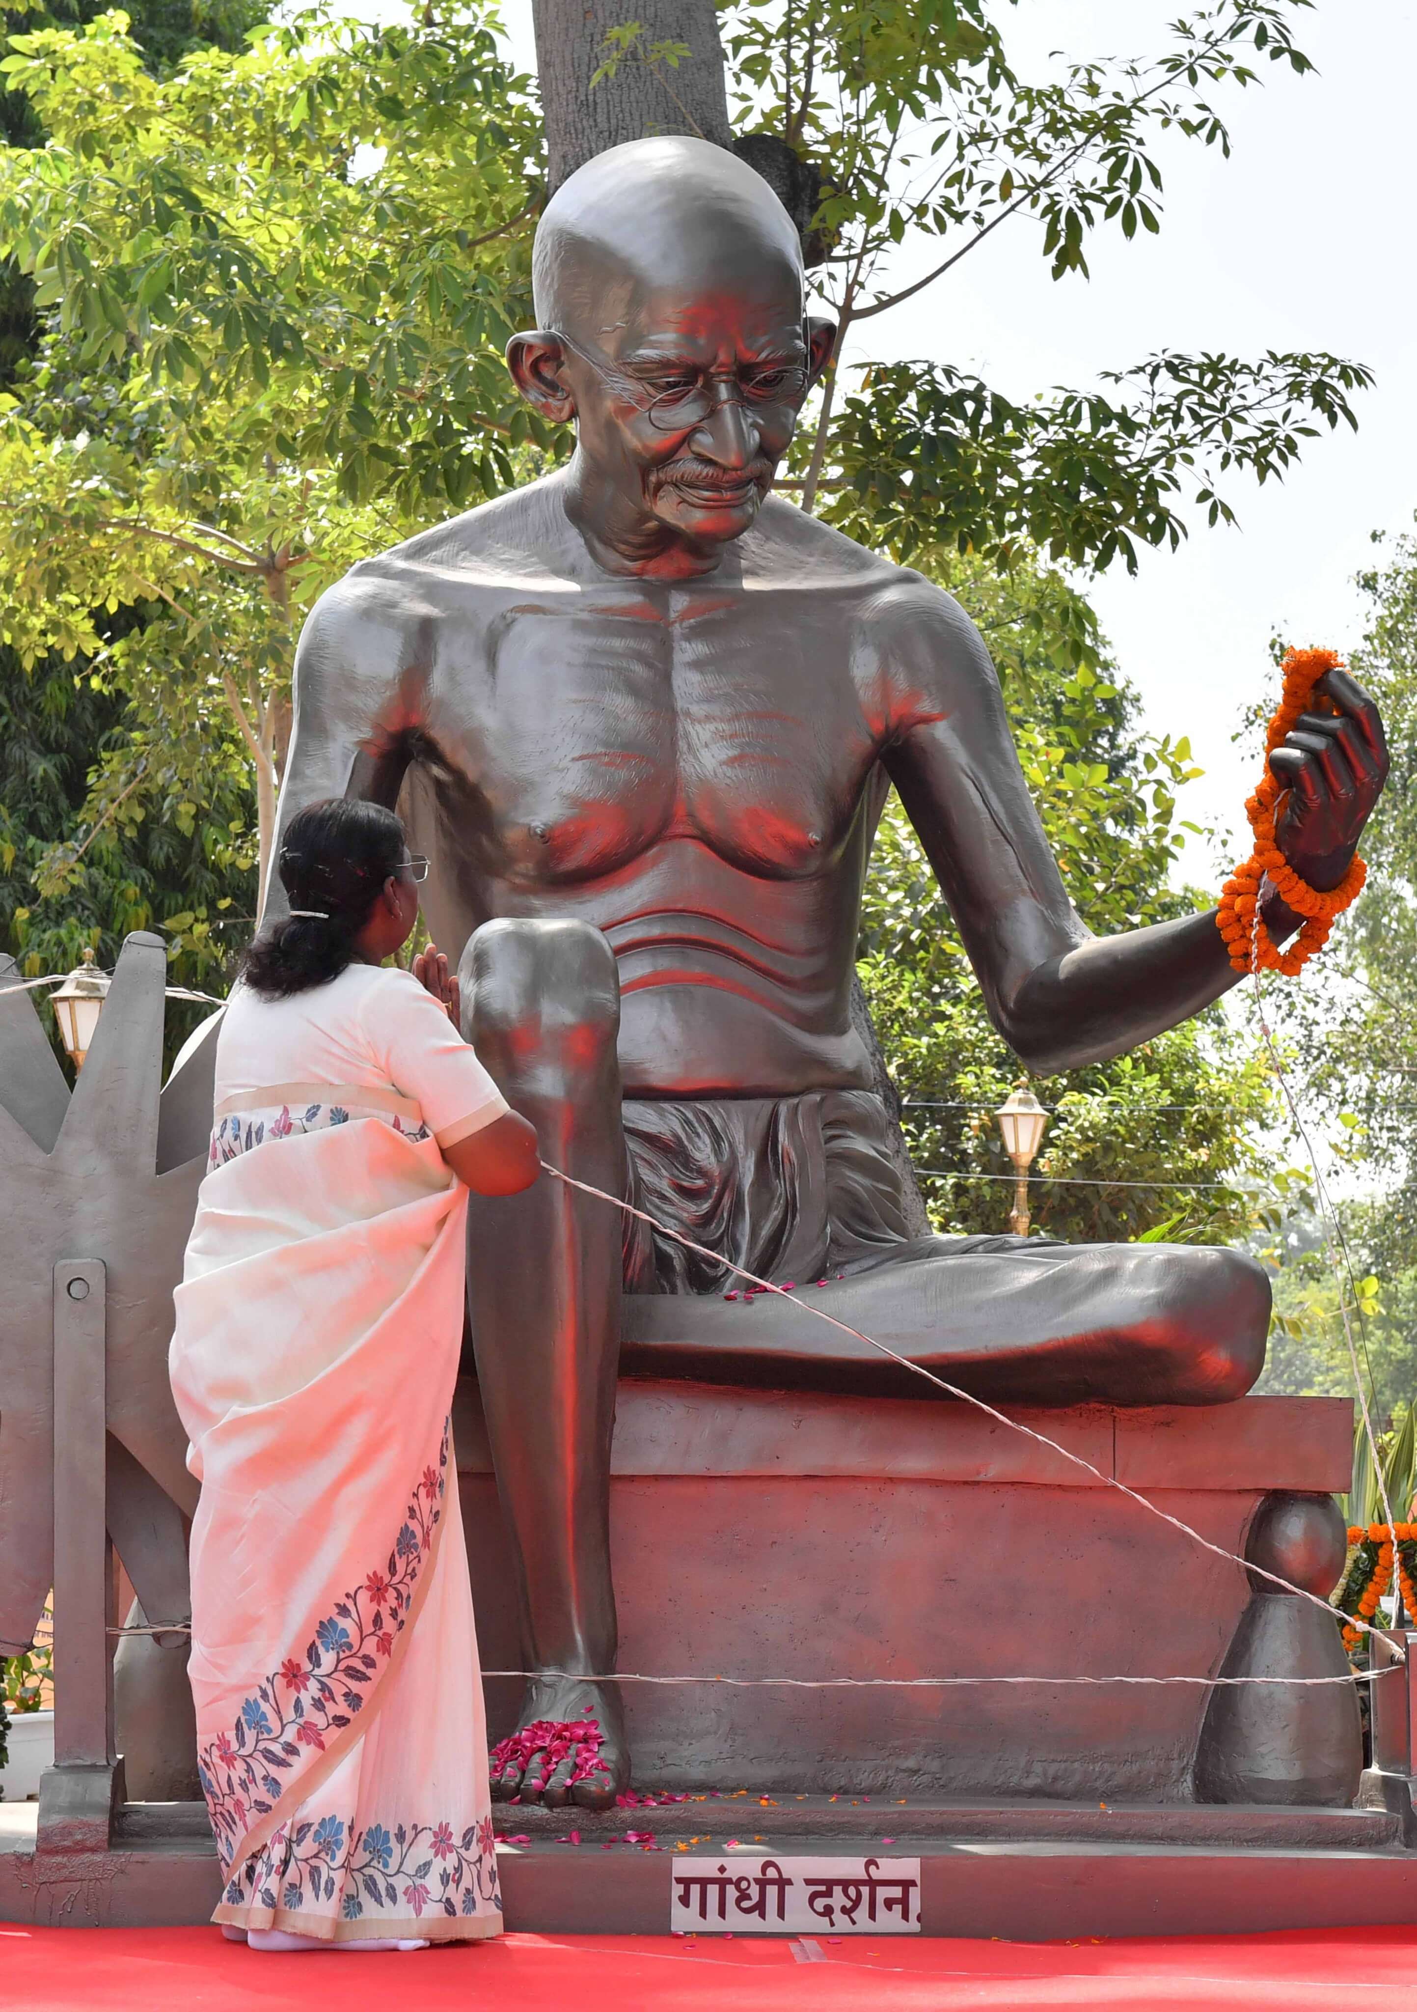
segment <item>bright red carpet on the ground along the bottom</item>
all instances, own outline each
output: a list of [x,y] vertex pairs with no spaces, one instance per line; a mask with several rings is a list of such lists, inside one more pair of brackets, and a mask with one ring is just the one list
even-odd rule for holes
[[0,1925],[0,2006],[36,2012],[1417,2012],[1417,1927],[1174,1942],[681,1942],[504,1936],[418,1956],[253,1956],[209,1927]]

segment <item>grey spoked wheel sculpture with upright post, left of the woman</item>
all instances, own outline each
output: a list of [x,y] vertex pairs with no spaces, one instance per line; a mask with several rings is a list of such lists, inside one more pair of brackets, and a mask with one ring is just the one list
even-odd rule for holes
[[[48,1793],[56,1821],[62,1805],[66,1823],[100,1825],[115,1793],[92,1777],[105,1765],[94,1748],[113,1744],[103,1702],[111,1616],[90,1598],[105,1529],[137,1591],[135,1620],[189,1618],[185,1519],[197,1483],[167,1344],[207,1161],[211,1080],[203,1091],[199,1060],[159,1097],[167,950],[157,936],[127,940],[72,1097],[34,994],[4,990],[16,982],[14,962],[0,960],[0,1654],[28,1646],[56,1587],[60,1718],[74,1712],[80,1728],[76,1787],[54,1779]],[[147,1797],[195,1795],[185,1664],[183,1638],[119,1650],[129,1789]],[[64,1740],[60,1724],[56,1777]]]

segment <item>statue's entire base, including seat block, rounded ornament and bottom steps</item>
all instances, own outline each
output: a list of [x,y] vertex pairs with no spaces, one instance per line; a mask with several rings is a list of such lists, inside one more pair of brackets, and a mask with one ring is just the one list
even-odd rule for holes
[[[1015,1416],[1226,1551],[1333,1573],[1345,1402]],[[517,1668],[470,1382],[454,1435],[482,1662]],[[685,1801],[502,1805],[509,1927],[663,1934],[675,1865],[705,1851],[736,1875],[919,1857],[937,1936],[1417,1921],[1407,1672],[1359,1795],[1351,1688],[1212,1682],[1341,1672],[1325,1614],[969,1406],[625,1382],[611,1513],[623,1670],[828,1688],[627,1684],[637,1793]],[[1198,1682],[830,1684],[1116,1674]],[[494,1738],[517,1690],[488,1680]],[[107,1851],[44,1849],[34,1805],[0,1805],[0,1919],[201,1921],[215,1897],[201,1805],[127,1803]]]

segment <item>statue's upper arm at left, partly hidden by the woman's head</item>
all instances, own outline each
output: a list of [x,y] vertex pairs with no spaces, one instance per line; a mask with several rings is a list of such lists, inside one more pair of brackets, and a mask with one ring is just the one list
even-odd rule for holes
[[[406,670],[406,616],[396,590],[350,573],[312,608],[295,650],[293,724],[275,813],[275,851],[295,811],[326,797],[398,801],[420,680]],[[269,875],[265,917],[285,911]]]

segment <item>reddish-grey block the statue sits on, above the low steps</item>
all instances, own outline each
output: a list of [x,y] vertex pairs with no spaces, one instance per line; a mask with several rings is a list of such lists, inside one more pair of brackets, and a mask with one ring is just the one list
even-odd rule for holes
[[[1015,1416],[1228,1551],[1264,1495],[1349,1481],[1341,1398]],[[519,1668],[470,1382],[454,1443],[482,1662]],[[1240,1565],[955,1402],[621,1382],[611,1531],[621,1668],[645,1674],[1204,1680],[1250,1598]],[[486,1690],[500,1738],[519,1686]],[[641,1787],[1091,1805],[1192,1801],[1208,1698],[1204,1682],[625,1686]]]

